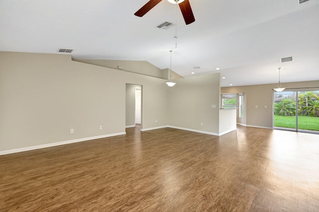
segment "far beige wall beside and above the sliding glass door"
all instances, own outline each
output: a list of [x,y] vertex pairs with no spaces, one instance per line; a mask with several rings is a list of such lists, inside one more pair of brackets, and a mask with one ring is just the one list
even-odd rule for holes
[[[278,84],[238,86],[221,88],[221,93],[245,93],[244,107],[246,108],[242,123],[247,126],[273,127],[273,88]],[[282,87],[305,88],[319,87],[319,81],[282,83]],[[258,106],[258,108],[256,108]],[[267,106],[267,108],[265,108]]]

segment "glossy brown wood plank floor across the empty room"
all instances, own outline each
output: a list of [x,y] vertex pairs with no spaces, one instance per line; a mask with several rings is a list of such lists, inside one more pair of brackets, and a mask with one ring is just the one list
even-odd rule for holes
[[0,156],[0,212],[318,212],[319,135],[163,128]]

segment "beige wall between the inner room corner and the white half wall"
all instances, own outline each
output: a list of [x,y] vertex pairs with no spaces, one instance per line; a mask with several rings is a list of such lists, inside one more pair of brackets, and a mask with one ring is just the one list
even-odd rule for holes
[[176,85],[169,88],[169,125],[218,134],[220,74],[182,78],[175,82]]

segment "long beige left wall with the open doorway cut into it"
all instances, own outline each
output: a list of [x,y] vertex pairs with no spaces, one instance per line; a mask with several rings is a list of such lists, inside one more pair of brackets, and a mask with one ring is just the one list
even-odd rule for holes
[[143,127],[166,124],[165,82],[69,55],[0,52],[0,151],[125,132],[126,83],[143,85]]

